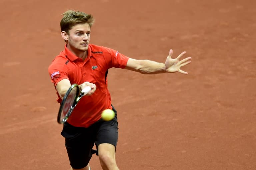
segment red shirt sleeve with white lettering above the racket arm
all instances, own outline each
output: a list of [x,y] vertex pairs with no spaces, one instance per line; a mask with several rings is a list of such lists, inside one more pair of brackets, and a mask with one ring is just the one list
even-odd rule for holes
[[51,82],[54,84],[54,87],[63,79],[68,79],[67,68],[63,64],[61,58],[55,58],[53,62],[48,67],[48,73],[51,77]]

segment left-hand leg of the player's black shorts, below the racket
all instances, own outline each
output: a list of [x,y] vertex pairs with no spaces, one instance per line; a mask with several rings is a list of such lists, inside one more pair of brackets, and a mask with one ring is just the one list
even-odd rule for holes
[[65,123],[61,135],[65,137],[70,165],[74,169],[81,169],[87,166],[94,146],[94,137],[88,128],[73,127]]

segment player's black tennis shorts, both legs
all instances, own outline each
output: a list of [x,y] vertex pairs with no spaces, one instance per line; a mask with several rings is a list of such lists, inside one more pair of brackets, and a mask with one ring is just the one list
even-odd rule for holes
[[[113,106],[112,106],[113,107]],[[92,157],[94,144],[109,143],[116,147],[118,140],[117,112],[111,121],[100,121],[88,128],[74,127],[65,122],[61,135],[65,137],[69,162],[72,168],[81,169],[87,166]]]

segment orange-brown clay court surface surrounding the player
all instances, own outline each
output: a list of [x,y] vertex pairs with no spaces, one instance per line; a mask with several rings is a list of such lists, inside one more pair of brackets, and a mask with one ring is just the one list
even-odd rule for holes
[[[110,69],[120,170],[256,169],[253,0],[1,0],[0,169],[69,170],[48,65],[64,49],[61,14],[91,13],[91,42],[188,75]],[[92,170],[101,169],[93,156]]]

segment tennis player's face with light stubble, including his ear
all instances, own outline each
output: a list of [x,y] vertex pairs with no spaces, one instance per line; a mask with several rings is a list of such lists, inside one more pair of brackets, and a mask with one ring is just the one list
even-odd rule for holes
[[90,26],[88,23],[77,24],[69,30],[69,34],[65,31],[61,32],[62,38],[67,42],[67,47],[73,52],[85,52],[88,49],[90,37]]

